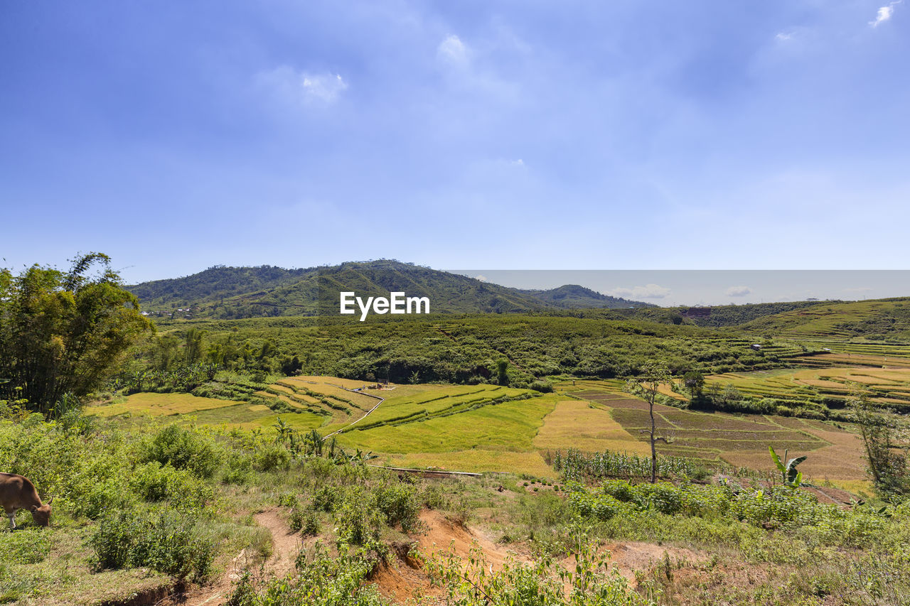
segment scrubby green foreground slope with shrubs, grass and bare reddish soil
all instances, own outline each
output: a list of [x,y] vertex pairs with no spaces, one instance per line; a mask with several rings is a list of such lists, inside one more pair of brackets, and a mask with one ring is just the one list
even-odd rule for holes
[[[205,591],[240,550],[257,555],[234,583],[234,604],[401,601],[410,596],[389,593],[382,575],[409,558],[423,561],[410,590],[460,604],[875,604],[904,603],[910,591],[907,501],[823,505],[802,488],[706,474],[691,460],[666,460],[652,484],[634,481],[650,475],[650,460],[632,472],[604,462],[608,453],[566,453],[560,480],[533,491],[509,474],[399,476],[278,429],[254,436],[148,421],[124,431],[116,419],[32,416],[3,421],[0,434],[0,464],[56,496],[52,528],[35,528],[26,513],[23,530],[0,537],[6,602],[100,602],[177,580]],[[484,550],[408,548],[429,509],[515,557],[490,571]],[[262,568],[272,536],[253,519],[270,510],[308,545],[278,576]],[[591,550],[600,542],[614,563],[626,544],[659,557],[619,561],[621,577],[604,566],[607,551]]]

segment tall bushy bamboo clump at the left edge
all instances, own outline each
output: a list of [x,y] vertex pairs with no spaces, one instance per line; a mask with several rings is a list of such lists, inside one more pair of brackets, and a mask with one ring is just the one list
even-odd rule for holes
[[0,378],[7,379],[0,399],[22,398],[30,409],[52,413],[65,395],[97,389],[150,331],[104,254],[80,256],[68,272],[34,265],[14,276],[0,269]]

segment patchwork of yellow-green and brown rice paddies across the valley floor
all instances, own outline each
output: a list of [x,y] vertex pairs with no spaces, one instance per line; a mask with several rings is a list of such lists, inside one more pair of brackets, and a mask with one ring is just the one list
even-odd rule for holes
[[[712,377],[746,392],[769,389],[845,389],[844,381],[870,386],[905,386],[910,369],[778,370]],[[555,477],[546,463],[556,449],[614,450],[650,454],[647,403],[624,393],[621,380],[576,380],[540,394],[499,386],[400,385],[376,389],[362,381],[333,377],[280,379],[261,395],[278,398],[292,411],[187,394],[139,393],[89,409],[111,417],[129,413],[172,416],[218,429],[270,431],[282,419],[293,429],[338,432],[346,449],[379,455],[383,464],[462,471],[511,471]],[[669,392],[669,389],[666,389]],[[672,392],[669,392],[672,393]],[[896,391],[895,391],[896,393]],[[369,412],[369,414],[368,414]],[[728,414],[655,406],[657,425],[671,440],[659,453],[706,463],[771,470],[768,446],[805,454],[807,478],[836,485],[866,478],[862,445],[849,428],[809,419]],[[854,486],[855,488],[855,486]]]

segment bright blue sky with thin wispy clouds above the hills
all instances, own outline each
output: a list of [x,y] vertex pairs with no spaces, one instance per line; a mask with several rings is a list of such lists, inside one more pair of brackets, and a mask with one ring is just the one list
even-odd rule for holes
[[0,266],[904,269],[907,56],[900,0],[5,2]]

